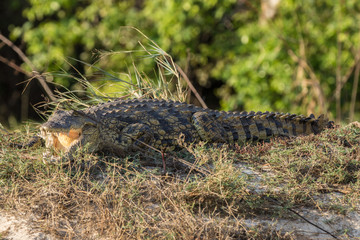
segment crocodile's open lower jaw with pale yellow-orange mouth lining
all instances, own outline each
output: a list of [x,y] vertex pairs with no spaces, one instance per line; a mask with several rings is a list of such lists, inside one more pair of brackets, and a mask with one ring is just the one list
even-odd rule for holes
[[40,128],[40,132],[47,148],[65,152],[76,144],[82,135],[82,129],[54,130],[45,126]]

